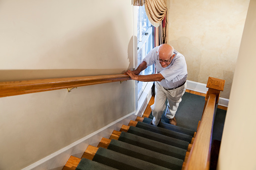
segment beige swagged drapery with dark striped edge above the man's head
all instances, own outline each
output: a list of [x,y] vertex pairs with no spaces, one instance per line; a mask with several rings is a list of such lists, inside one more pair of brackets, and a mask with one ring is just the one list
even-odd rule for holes
[[[166,0],[133,0],[133,6],[145,5],[150,23],[155,27],[155,46],[167,43],[167,5]],[[160,26],[160,27],[159,27]],[[156,33],[158,32],[158,33]],[[157,37],[156,37],[157,35]],[[158,43],[156,43],[158,41]]]

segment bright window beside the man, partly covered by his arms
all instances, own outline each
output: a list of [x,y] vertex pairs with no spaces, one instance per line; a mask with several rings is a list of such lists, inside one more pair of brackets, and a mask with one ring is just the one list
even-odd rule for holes
[[[137,55],[138,55],[138,65],[145,58],[145,56],[152,50],[153,48],[153,39],[152,39],[152,25],[150,24],[146,12],[145,7],[136,7],[137,8]],[[140,75],[148,75],[153,74],[153,67],[147,67],[147,69],[143,70]],[[147,82],[138,81],[138,99],[140,98],[143,90],[145,89]]]

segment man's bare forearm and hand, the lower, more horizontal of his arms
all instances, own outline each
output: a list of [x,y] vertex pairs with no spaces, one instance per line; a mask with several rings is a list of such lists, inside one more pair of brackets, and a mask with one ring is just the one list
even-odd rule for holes
[[164,79],[164,77],[158,73],[158,74],[149,74],[149,75],[136,75],[132,71],[127,71],[127,74],[131,77],[132,80],[137,81],[161,81]]

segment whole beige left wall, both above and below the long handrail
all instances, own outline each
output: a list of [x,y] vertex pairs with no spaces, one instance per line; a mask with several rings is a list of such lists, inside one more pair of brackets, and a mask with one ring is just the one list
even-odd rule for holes
[[[133,68],[129,0],[3,0],[0,16],[0,81]],[[0,108],[0,169],[21,169],[133,112],[134,84],[4,97]]]

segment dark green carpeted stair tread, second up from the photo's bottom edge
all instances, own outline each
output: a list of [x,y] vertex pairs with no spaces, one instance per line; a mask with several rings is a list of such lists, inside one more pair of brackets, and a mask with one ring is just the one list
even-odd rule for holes
[[116,151],[100,147],[96,152],[94,161],[117,169],[168,169],[153,163],[149,163]]

